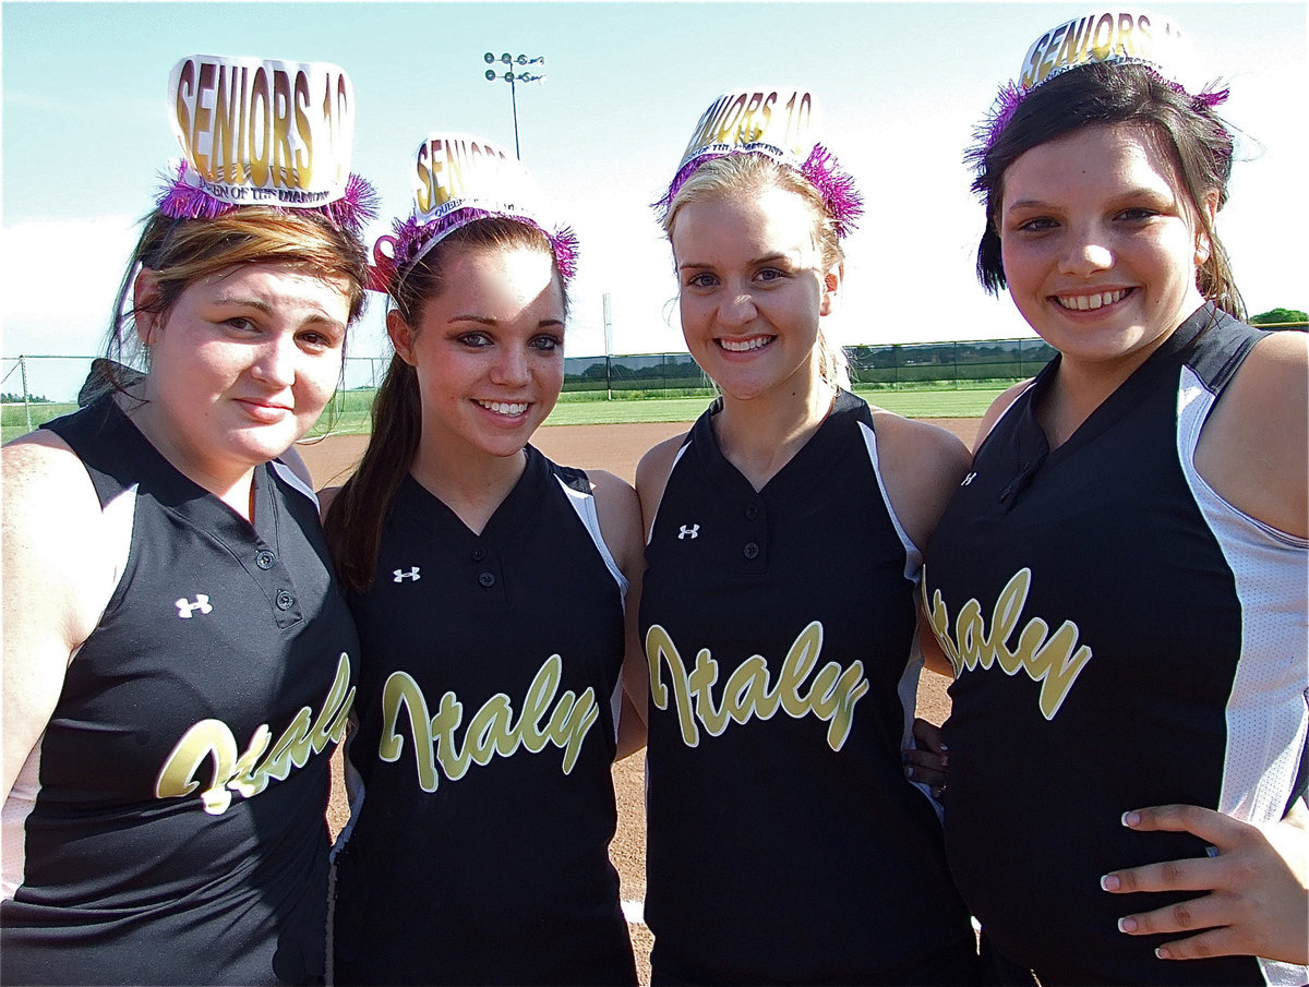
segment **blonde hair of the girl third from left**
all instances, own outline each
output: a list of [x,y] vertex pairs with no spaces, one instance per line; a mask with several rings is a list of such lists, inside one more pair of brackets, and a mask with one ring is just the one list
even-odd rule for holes
[[[768,188],[795,192],[804,200],[813,217],[813,237],[822,258],[823,271],[844,262],[836,223],[829,215],[822,192],[802,174],[767,154],[725,154],[706,161],[682,183],[664,216],[664,233],[673,241],[673,229],[682,207],[692,202],[758,195]],[[850,390],[850,361],[846,351],[829,342],[818,329],[818,372],[829,384]]]

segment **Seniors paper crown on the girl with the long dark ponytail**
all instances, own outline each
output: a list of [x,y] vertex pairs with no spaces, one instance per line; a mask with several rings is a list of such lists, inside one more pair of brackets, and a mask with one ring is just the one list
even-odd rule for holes
[[419,260],[459,226],[492,217],[545,233],[560,276],[565,283],[572,279],[577,237],[550,219],[528,169],[503,148],[469,134],[429,134],[419,144],[412,178],[412,213],[395,220],[394,236],[380,237],[373,246],[381,281],[389,283],[398,270]]

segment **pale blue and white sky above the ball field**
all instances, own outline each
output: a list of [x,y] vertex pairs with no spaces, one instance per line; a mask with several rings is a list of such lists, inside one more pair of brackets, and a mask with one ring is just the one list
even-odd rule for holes
[[[411,208],[432,131],[513,147],[509,85],[484,52],[545,56],[517,86],[522,158],[581,241],[569,356],[685,351],[668,245],[648,204],[715,97],[808,88],[821,137],[865,200],[846,241],[842,344],[1029,336],[974,276],[982,208],[962,153],[1000,82],[1085,3],[10,3],[0,4],[3,353],[94,355],[137,223],[179,156],[169,72],[194,54],[330,62],[356,97],[353,170],[382,216]],[[1117,8],[1103,8],[1117,9]],[[1241,135],[1219,232],[1251,313],[1309,309],[1305,3],[1160,3]],[[374,298],[351,356],[387,353]],[[8,386],[5,390],[14,390]],[[34,387],[34,390],[37,390]]]

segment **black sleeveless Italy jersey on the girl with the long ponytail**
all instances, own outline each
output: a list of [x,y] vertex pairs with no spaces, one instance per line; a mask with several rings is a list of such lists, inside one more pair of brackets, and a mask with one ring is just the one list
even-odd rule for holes
[[627,580],[586,475],[526,452],[480,535],[406,476],[351,596],[336,983],[636,982],[609,860]]

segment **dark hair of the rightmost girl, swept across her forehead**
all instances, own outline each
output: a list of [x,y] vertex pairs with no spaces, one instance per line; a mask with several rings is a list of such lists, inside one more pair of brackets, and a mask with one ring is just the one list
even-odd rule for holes
[[1208,301],[1245,318],[1232,264],[1210,213],[1202,208],[1216,191],[1219,208],[1228,200],[1232,177],[1232,134],[1200,99],[1179,92],[1157,73],[1134,63],[1093,63],[1042,82],[1017,107],[1013,119],[980,158],[973,191],[986,199],[986,232],[978,245],[978,280],[999,295],[1008,281],[1000,253],[999,219],[1004,173],[1025,152],[1083,127],[1136,124],[1155,135],[1177,169],[1195,221],[1208,237],[1210,255],[1195,274]]

